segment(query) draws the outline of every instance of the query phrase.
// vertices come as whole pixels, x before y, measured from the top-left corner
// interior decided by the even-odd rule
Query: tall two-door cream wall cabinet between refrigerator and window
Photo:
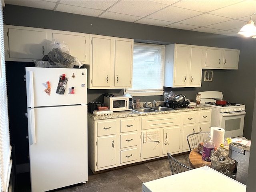
[[[91,35],[88,88],[131,88],[133,40]]]

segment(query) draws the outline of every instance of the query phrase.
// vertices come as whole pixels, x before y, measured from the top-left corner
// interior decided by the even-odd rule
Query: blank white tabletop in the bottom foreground
[[[143,192],[246,192],[246,185],[208,167],[142,183]]]

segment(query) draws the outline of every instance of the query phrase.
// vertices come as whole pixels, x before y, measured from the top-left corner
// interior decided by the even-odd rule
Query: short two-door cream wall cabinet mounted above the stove
[[[240,50],[204,47],[204,69],[238,69]]]

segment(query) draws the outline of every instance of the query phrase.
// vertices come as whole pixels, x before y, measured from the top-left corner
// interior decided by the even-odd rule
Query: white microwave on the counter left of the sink
[[[104,104],[112,111],[126,111],[132,110],[132,96],[104,96]]]

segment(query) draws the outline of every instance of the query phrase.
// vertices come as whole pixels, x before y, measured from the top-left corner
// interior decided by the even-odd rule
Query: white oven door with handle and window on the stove
[[[245,111],[220,114],[220,127],[225,129],[225,138],[243,136]]]

